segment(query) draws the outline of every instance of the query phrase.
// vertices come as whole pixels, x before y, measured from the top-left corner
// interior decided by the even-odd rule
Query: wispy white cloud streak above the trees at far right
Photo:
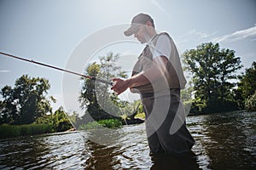
[[[251,28],[247,28],[246,30],[235,31],[229,35],[215,37],[212,39],[212,42],[236,42],[247,38],[251,38],[251,41],[255,41],[256,24]]]

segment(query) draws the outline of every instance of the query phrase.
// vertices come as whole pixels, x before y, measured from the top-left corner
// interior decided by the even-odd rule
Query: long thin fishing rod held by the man
[[[67,71],[65,69],[62,69],[62,68],[59,68],[59,67],[55,67],[53,65],[46,65],[44,63],[40,63],[40,62],[34,61],[32,59],[25,59],[25,58],[21,58],[21,57],[12,55],[12,54],[6,54],[6,53],[3,53],[3,52],[0,52],[0,54],[2,54],[4,56],[11,57],[11,58],[14,58],[14,59],[20,59],[20,60],[23,60],[23,61],[26,61],[26,62],[30,62],[30,63],[35,64],[35,65],[43,65],[43,66],[46,66],[46,67],[49,67],[49,68],[52,68],[52,69],[55,69],[55,70],[58,70],[58,71],[65,71],[65,72],[68,72],[70,74],[77,75],[79,77],[89,78],[91,80],[94,80],[94,81],[97,81],[97,82],[102,82],[102,83],[105,83],[105,84],[108,84],[108,85],[111,85],[111,86],[113,85],[113,82],[108,82],[106,80],[102,80],[102,79],[96,78],[96,77],[89,77],[89,76],[86,76],[86,75],[83,75],[83,74],[79,74],[79,73],[74,72],[74,71]]]

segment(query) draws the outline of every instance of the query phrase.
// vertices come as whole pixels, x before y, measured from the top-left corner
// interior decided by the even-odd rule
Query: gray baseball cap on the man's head
[[[128,30],[124,31],[125,36],[129,37],[132,34],[137,32],[138,26],[144,25],[148,20],[154,25],[154,20],[148,14],[137,14],[131,20],[131,27]]]

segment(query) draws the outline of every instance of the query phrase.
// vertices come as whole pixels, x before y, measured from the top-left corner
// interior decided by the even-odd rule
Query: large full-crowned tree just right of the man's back
[[[236,109],[232,88],[241,69],[241,60],[235,51],[220,49],[218,43],[202,43],[196,49],[183,54],[186,69],[192,72],[195,90],[194,108],[202,112],[227,111]],[[230,108],[226,107],[227,105]]]

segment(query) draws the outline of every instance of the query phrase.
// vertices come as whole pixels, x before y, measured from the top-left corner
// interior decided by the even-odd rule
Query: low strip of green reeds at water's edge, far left
[[[51,133],[52,125],[50,124],[26,124],[26,125],[0,125],[0,139],[14,138],[19,136],[28,136],[41,133]]]

